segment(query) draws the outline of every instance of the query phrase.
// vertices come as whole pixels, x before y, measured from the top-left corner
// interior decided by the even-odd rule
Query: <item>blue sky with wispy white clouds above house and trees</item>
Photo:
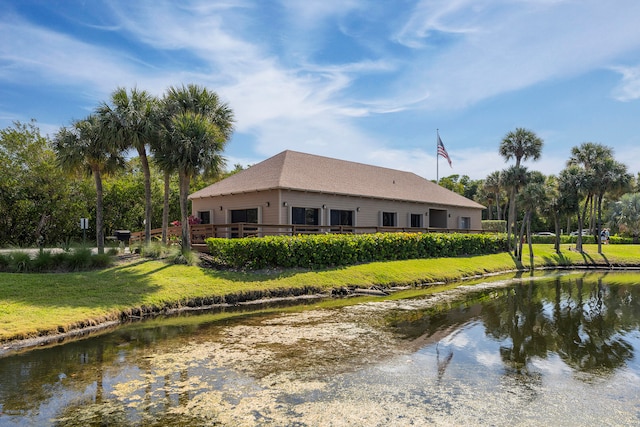
[[[638,22],[637,0],[0,0],[0,127],[197,83],[235,112],[229,166],[291,149],[435,179],[439,129],[440,176],[481,179],[525,127],[531,169],[590,141],[636,174]]]

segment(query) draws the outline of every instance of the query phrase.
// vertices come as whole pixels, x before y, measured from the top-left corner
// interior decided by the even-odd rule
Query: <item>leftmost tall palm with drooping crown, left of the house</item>
[[[109,144],[104,128],[95,115],[63,127],[54,137],[54,150],[60,167],[93,175],[96,185],[96,241],[104,253],[104,215],[102,175],[124,164],[120,150]]]

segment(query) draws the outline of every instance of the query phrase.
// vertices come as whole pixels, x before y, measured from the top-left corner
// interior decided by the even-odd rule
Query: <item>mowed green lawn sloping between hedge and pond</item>
[[[534,267],[640,265],[640,245],[585,245],[584,253],[563,245],[534,245]],[[530,268],[508,253],[376,262],[319,271],[229,272],[161,261],[140,261],[101,271],[59,274],[0,273],[0,342],[24,339],[117,320],[140,308],[161,310],[204,298],[308,288],[370,287],[454,282],[464,277]]]

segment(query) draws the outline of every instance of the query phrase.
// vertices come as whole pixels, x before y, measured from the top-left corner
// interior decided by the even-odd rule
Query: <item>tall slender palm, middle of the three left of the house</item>
[[[138,152],[144,174],[144,236],[151,240],[151,171],[147,145],[158,135],[159,123],[154,110],[157,100],[146,91],[136,88],[127,92],[118,88],[111,94],[111,105],[101,104],[97,113],[104,124],[107,137],[122,150],[134,148]]]

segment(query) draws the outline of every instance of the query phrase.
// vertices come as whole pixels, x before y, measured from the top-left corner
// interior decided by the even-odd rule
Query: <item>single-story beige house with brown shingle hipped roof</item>
[[[203,224],[478,231],[485,208],[411,172],[290,150],[189,199]]]

